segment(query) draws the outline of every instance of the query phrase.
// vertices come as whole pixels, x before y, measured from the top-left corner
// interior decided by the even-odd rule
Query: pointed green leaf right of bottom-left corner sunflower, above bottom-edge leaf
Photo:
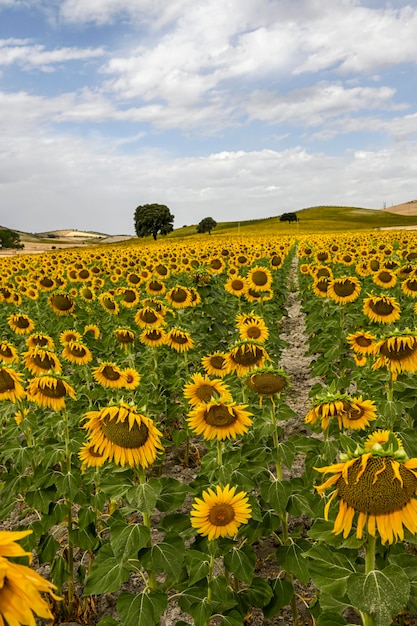
[[[92,595],[117,591],[129,575],[129,570],[114,556],[111,545],[106,543],[97,553],[84,593]]]

